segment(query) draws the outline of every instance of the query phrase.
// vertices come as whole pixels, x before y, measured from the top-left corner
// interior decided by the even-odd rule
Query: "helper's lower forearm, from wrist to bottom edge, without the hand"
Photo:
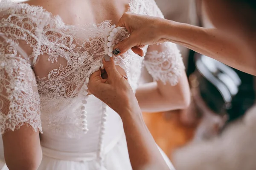
[[[121,113],[129,157],[133,170],[169,170],[146,127],[140,108]]]

